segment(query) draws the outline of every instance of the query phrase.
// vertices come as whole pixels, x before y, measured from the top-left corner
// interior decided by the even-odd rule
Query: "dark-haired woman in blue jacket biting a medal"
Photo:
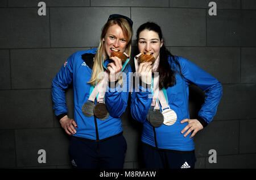
[[[221,83],[187,59],[171,55],[155,23],[138,28],[137,46],[141,53],[134,60],[141,83],[131,93],[131,115],[143,123],[145,168],[194,168],[193,137],[216,114]],[[139,61],[143,54],[154,56],[154,64]],[[197,119],[189,118],[188,85],[192,83],[205,91]]]

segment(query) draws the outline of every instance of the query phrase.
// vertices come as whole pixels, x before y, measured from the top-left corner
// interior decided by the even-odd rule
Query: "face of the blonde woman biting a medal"
[[[125,51],[127,39],[125,35],[123,35],[122,28],[117,24],[114,24],[108,28],[108,31],[102,40],[105,41],[103,48],[105,60],[110,57],[113,51]]]

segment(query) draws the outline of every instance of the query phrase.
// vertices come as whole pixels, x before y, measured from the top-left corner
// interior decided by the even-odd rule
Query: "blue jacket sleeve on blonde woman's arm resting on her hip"
[[[56,74],[52,81],[52,101],[53,110],[55,115],[60,119],[61,116],[67,115],[68,108],[65,98],[65,89],[71,84],[73,79],[73,59],[75,58],[75,53],[71,55],[67,62],[61,66],[60,71]]]

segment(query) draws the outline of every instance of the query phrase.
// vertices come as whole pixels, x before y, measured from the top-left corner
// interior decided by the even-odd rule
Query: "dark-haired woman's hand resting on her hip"
[[[197,119],[183,119],[181,120],[180,123],[182,124],[185,122],[188,122],[188,125],[186,125],[184,129],[182,129],[181,134],[183,134],[187,130],[188,131],[184,134],[184,137],[188,136],[188,134],[191,133],[191,131],[193,131],[192,135],[190,136],[191,138],[195,136],[197,132],[204,128],[203,125]]]

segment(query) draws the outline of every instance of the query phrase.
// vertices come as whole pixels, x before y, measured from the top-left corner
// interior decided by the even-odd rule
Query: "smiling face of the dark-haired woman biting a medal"
[[[159,56],[160,47],[163,45],[163,39],[160,39],[155,31],[147,29],[139,33],[138,49],[139,52],[153,55],[156,58]]]

